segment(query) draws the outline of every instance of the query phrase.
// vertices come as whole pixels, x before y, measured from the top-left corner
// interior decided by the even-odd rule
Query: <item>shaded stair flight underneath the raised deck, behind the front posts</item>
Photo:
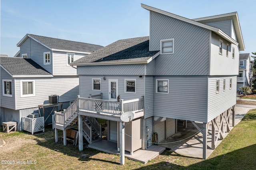
[[[83,136],[89,144],[102,139],[101,124],[94,117],[83,120]]]

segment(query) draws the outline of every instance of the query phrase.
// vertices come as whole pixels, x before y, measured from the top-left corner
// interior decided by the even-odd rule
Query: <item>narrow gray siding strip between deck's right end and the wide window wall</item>
[[[154,81],[153,76],[145,76],[145,118],[154,115]]]

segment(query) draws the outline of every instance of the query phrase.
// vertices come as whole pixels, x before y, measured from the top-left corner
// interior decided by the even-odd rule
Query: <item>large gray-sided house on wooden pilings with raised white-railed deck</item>
[[[96,118],[105,119],[108,141],[116,143],[124,164],[124,150],[132,154],[146,149],[155,132],[161,142],[176,133],[181,119],[203,124],[206,158],[207,127],[222,126],[216,117],[228,117],[222,122],[229,129],[234,114],[239,51],[244,50],[237,13],[190,20],[144,4],[142,8],[150,12],[148,37],[118,40],[71,63],[77,67],[80,97],[57,113],[56,135],[61,129],[65,136],[73,121],[62,122],[62,117],[78,117],[79,150],[82,136],[94,148],[90,125],[101,130]],[[121,115],[130,112],[134,119],[122,128],[127,124]],[[95,132],[99,136],[100,130]],[[218,138],[212,136],[212,149]]]

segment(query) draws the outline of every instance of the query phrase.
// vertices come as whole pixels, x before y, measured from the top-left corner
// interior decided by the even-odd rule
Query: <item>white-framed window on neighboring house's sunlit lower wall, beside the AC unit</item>
[[[36,96],[35,80],[21,80],[20,81],[20,97]]]

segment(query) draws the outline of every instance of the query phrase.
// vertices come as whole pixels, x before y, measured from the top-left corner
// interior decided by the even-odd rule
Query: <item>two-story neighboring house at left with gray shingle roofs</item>
[[[1,124],[38,113],[49,95],[66,109],[79,94],[76,68],[69,64],[102,46],[27,34],[17,44],[18,57],[1,57]],[[41,112],[42,113],[42,112]],[[49,119],[50,120],[50,119]]]

